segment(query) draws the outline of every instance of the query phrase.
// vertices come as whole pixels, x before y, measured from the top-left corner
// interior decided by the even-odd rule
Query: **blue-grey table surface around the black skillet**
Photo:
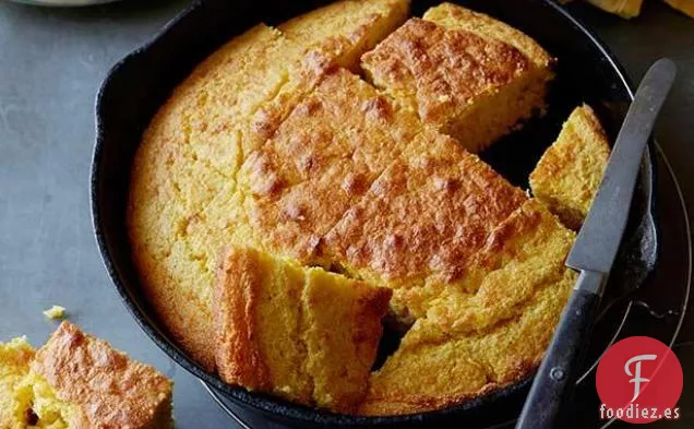
[[[26,334],[41,344],[56,327],[41,310],[60,303],[87,332],[175,379],[179,428],[224,428],[234,426],[200,383],[156,348],[120,303],[89,217],[97,87],[112,63],[186,4],[151,0],[43,9],[0,1],[0,338]],[[692,213],[694,20],[656,0],[631,22],[582,4],[572,10],[597,29],[634,80],[658,57],[678,62],[680,79],[658,135]],[[694,339],[693,319],[683,342]],[[694,365],[683,365],[685,373],[694,372]]]

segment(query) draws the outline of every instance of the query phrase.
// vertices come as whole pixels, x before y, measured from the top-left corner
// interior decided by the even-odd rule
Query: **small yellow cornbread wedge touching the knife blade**
[[[595,112],[586,105],[577,107],[530,174],[533,194],[564,225],[578,229],[609,157],[610,145]]]

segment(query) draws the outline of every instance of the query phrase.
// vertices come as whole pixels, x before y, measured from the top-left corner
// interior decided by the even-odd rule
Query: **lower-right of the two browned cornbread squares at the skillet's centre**
[[[393,163],[323,240],[347,273],[395,289],[392,310],[404,322],[427,307],[417,290],[462,282],[489,234],[526,199],[454,140],[426,131],[415,142],[419,150]]]

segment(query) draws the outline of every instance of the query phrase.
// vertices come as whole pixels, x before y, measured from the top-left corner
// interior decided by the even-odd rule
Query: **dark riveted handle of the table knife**
[[[560,409],[576,383],[595,310],[605,285],[601,273],[583,271],[535,376],[516,429],[560,426]]]

